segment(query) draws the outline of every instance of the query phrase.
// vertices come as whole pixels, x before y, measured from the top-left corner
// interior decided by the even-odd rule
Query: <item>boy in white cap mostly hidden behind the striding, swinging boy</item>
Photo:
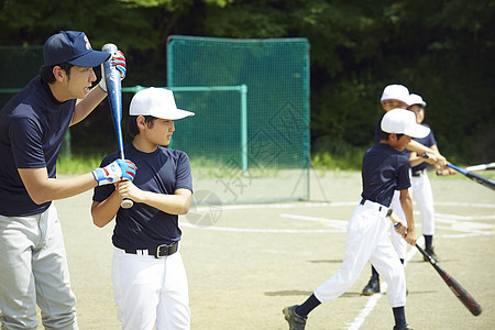
[[[407,87],[405,87],[403,85],[388,85],[383,90],[383,94],[381,97],[381,103],[382,103],[382,107],[385,110],[385,112],[387,112],[394,108],[407,109],[409,106],[409,90],[407,89]],[[381,128],[380,128],[381,122],[382,122],[382,119],[378,119],[376,121],[375,143],[378,143],[380,139],[381,139],[380,138],[381,136]],[[438,166],[443,167],[446,164],[446,158],[442,155],[440,155],[438,152],[435,152],[433,150],[431,150],[414,140],[406,146],[405,153],[407,153],[408,151],[415,151],[416,153],[421,154],[421,155],[429,155],[428,162],[437,163],[437,164],[439,164]],[[394,197],[392,199],[391,207],[394,210],[394,212],[397,215],[397,217],[399,219],[404,220],[405,215],[404,215],[404,211],[403,211],[400,205],[402,204],[399,200],[399,194],[398,194],[398,191],[395,191]],[[392,244],[394,245],[394,248],[397,251],[400,262],[404,263],[404,258],[407,253],[406,242],[402,239],[402,237],[399,234],[397,234],[395,232],[394,229],[392,229],[391,239],[392,239]],[[362,294],[364,296],[371,296],[375,293],[380,293],[380,275],[378,275],[378,272],[376,272],[376,270],[372,266],[372,276],[370,277],[370,282],[363,288]]]

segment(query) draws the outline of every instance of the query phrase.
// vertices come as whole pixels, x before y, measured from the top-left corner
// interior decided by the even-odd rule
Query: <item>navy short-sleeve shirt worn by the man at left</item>
[[[46,167],[56,177],[56,162],[76,100],[58,102],[40,76],[31,80],[0,111],[0,215],[23,217],[45,211],[36,205],[18,168]]]

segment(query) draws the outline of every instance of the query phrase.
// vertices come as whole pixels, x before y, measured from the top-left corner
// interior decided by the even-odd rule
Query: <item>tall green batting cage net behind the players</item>
[[[196,204],[309,198],[309,43],[173,35],[172,147],[191,161]]]

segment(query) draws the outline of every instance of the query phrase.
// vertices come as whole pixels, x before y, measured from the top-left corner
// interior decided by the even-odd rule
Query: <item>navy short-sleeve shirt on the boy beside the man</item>
[[[158,146],[153,153],[143,153],[129,144],[124,153],[125,158],[138,166],[133,183],[140,189],[167,195],[174,195],[180,188],[193,191],[189,157],[185,152]],[[118,157],[118,153],[108,155],[101,166]],[[92,199],[101,202],[113,191],[113,185],[96,187]],[[132,208],[120,208],[117,212],[112,242],[119,249],[142,250],[177,242],[180,235],[177,215],[134,202]]]

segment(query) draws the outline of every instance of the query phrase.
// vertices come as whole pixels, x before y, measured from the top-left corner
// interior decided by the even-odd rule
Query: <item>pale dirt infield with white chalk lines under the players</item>
[[[483,312],[473,317],[419,252],[409,249],[408,322],[424,330],[494,329],[495,193],[462,176],[430,178],[437,213],[433,244],[441,266]],[[337,272],[345,224],[360,193],[359,173],[314,172],[309,202],[206,206],[183,217],[191,329],[288,329],[282,308],[302,302]],[[87,193],[56,202],[79,327],[120,329],[110,280],[112,224],[98,229],[91,223],[90,199]],[[420,233],[420,217],[416,219]],[[360,296],[370,273],[366,267],[348,293],[319,306],[307,329],[392,329],[386,294]]]

